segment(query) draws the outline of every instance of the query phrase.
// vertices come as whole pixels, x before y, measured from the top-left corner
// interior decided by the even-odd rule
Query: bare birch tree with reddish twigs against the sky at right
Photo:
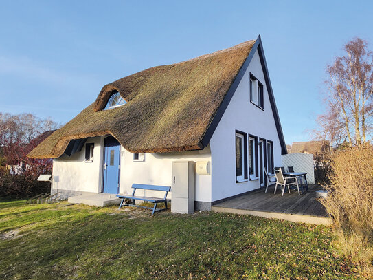
[[[361,145],[371,140],[373,54],[359,38],[344,45],[345,54],[326,67],[326,114],[318,117],[319,136],[333,144]]]

